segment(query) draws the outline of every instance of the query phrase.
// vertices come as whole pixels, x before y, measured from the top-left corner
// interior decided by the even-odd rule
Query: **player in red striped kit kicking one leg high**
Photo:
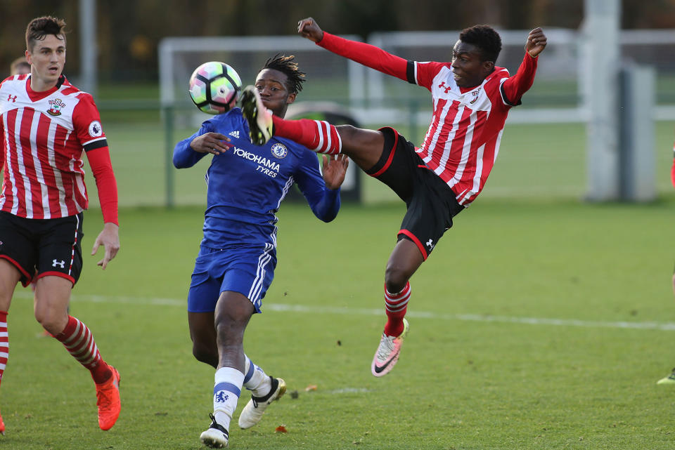
[[[487,25],[461,32],[451,62],[417,62],[323,32],[312,18],[298,24],[302,37],[328,51],[428,88],[432,94],[433,118],[419,148],[393,128],[374,131],[272,117],[255,91],[245,89],[242,95],[253,142],[265,142],[274,134],[319,153],[347,154],[406,202],[406,216],[385,270],[387,324],[371,364],[374,376],[384,376],[396,364],[408,333],[404,316],[411,296],[409,279],[452,226],[454,216],[484,187],[508,111],[520,105],[532,86],[546,35],[541,28],[529,32],[522,64],[510,77],[495,65],[501,38]]]

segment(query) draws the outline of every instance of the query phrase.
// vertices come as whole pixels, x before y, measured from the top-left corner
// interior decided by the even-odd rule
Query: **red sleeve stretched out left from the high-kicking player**
[[[371,69],[416,84],[413,62],[387,53],[382,48],[363,42],[349,41],[349,39],[328,32],[323,32],[323,39],[316,44],[330,52],[371,67]]]

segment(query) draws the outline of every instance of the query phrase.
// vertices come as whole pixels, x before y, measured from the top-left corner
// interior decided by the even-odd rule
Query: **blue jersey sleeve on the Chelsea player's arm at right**
[[[323,181],[319,171],[319,159],[314,152],[305,150],[302,152],[302,164],[295,173],[295,182],[300,187],[300,192],[307,199],[309,208],[314,216],[330,222],[338,216],[340,211],[340,188],[330,190]]]

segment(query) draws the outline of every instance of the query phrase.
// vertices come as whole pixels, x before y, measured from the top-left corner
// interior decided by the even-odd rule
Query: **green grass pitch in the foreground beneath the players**
[[[657,327],[675,322],[674,208],[673,194],[650,205],[479,199],[413,277],[411,333],[377,379],[402,205],[347,204],[329,224],[283,205],[275,281],[245,348],[300,396],[251,430],[234,426],[231,448],[671,449],[675,390],[655,381],[675,365],[674,331]],[[122,209],[122,249],[101,271],[87,255],[100,211],[86,214],[71,312],[122,373],[109,432],[88,373],[36,337],[18,289],[2,449],[200,449],[213,370],[191,356],[184,298],[202,218],[200,207]],[[282,424],[288,433],[275,433]]]

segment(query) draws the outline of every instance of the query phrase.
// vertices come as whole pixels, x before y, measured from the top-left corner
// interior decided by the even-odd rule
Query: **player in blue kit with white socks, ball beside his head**
[[[255,88],[265,107],[284,117],[305,81],[293,56],[276,55],[258,73]],[[267,376],[243,350],[250,317],[260,312],[276,267],[276,211],[293,183],[314,215],[330,222],[340,210],[340,185],[348,160],[323,158],[300,144],[272,138],[252,145],[241,110],[205,121],[174,149],[174,166],[191,167],[213,154],[206,173],[204,237],[188,293],[193,355],[216,370],[210,428],[200,440],[223,448],[242,386],[252,392],[239,417],[241,428],[260,421],[266,407],[285,392],[281,378]]]

